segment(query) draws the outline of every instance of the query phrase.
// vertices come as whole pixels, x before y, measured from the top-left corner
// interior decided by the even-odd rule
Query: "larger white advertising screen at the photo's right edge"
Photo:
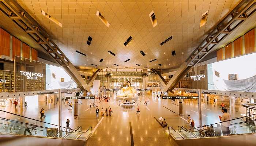
[[[256,53],[207,65],[208,90],[256,92]]]

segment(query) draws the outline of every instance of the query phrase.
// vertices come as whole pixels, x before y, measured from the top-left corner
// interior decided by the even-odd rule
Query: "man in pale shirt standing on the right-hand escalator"
[[[230,114],[229,113],[227,113],[227,109],[226,108],[224,108],[223,110],[222,110],[222,113],[223,113],[223,115],[222,116],[219,116],[219,119],[221,120],[221,130],[222,130],[222,134],[223,134],[223,136],[224,135],[229,135],[230,134],[230,130],[229,130],[229,126],[230,126]],[[225,121],[227,121],[227,122],[225,122]]]

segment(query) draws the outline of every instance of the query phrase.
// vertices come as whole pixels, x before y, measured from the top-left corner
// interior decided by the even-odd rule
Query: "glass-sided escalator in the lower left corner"
[[[85,145],[92,127],[83,130],[61,127],[55,124],[20,116],[0,110],[0,146],[19,145]]]

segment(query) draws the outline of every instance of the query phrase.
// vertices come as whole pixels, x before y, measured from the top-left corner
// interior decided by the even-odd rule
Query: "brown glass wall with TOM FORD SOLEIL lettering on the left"
[[[46,64],[15,57],[15,92],[45,90]]]

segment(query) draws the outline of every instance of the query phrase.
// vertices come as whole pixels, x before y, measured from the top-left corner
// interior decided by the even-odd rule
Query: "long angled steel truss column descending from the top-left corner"
[[[39,26],[16,0],[0,0],[0,10],[41,46],[49,56],[58,62],[82,91],[90,91],[90,87],[80,76],[78,70],[53,42],[53,39],[50,37],[51,34],[48,34]]]

